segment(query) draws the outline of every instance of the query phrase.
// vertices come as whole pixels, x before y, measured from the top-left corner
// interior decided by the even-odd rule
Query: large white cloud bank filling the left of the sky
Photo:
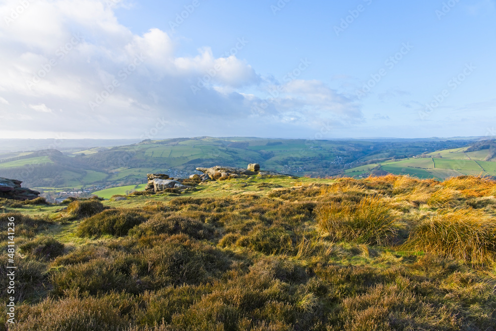
[[[362,117],[353,100],[320,81],[280,84],[281,95],[266,100],[245,93],[255,88],[268,95],[271,87],[245,60],[234,53],[216,58],[209,47],[179,57],[178,40],[157,28],[132,33],[106,2],[30,1],[8,25],[0,22],[0,91],[9,112],[22,114],[23,126],[34,135],[64,128],[71,135],[139,137],[157,119],[173,123],[157,137],[241,134],[241,127],[245,134],[262,135],[288,123],[306,130],[322,119]],[[18,0],[4,0],[0,17],[16,6]],[[239,39],[233,50],[249,46]],[[137,58],[143,59],[138,65]],[[202,87],[193,93],[198,82]],[[98,106],[92,110],[90,102]],[[253,111],[264,102],[263,112]],[[35,112],[26,113],[25,104]],[[15,121],[3,116],[0,131]]]

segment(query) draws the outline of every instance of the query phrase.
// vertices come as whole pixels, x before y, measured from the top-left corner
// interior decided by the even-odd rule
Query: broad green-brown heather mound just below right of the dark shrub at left
[[[134,226],[146,221],[148,214],[139,209],[109,209],[84,219],[77,228],[79,237],[105,234],[125,236]]]

